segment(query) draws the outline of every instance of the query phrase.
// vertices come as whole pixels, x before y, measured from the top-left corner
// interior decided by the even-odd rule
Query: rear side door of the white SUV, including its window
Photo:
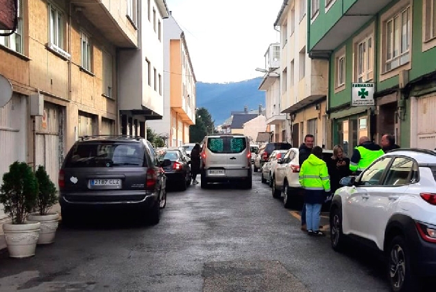
[[[396,157],[387,169],[380,187],[374,187],[369,193],[367,214],[370,214],[372,222],[378,224],[368,224],[368,238],[378,243],[381,248],[383,242],[377,241],[385,236],[385,227],[391,217],[390,210],[400,196],[406,193],[409,185],[417,181],[417,173],[418,166],[415,161],[408,157]]]

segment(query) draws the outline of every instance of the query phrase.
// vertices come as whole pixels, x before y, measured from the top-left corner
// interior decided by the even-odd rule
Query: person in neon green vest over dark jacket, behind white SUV
[[[354,148],[353,155],[350,159],[351,172],[355,175],[360,174],[383,154],[385,154],[385,152],[380,145],[371,142],[366,136],[361,137],[359,139],[359,145]]]

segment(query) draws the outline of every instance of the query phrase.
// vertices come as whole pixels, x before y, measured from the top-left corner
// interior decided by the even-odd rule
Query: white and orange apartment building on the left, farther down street
[[[169,14],[164,23],[163,117],[147,125],[167,137],[168,146],[189,143],[189,126],[195,124],[195,74],[184,31]]]

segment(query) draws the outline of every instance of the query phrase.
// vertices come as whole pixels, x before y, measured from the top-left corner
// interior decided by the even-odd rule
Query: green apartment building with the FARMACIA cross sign
[[[308,51],[328,59],[333,143],[351,150],[362,135],[402,147],[436,147],[436,1],[311,0]],[[365,105],[353,88],[372,85]]]

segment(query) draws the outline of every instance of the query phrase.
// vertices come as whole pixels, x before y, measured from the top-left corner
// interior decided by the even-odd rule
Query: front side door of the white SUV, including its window
[[[343,229],[346,233],[367,237],[370,232],[369,226],[374,224],[372,214],[368,213],[369,200],[371,194],[378,191],[385,170],[391,161],[391,157],[379,159],[362,172],[356,180],[356,186],[348,187],[343,218]]]

